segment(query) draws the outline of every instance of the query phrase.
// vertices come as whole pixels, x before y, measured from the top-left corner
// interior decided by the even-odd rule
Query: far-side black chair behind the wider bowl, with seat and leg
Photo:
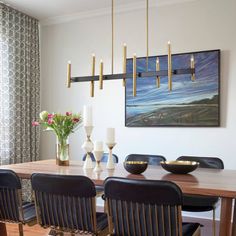
[[[200,168],[224,169],[223,161],[217,157],[180,156],[177,160],[197,161]],[[183,210],[190,212],[213,211],[212,231],[215,236],[215,207],[218,201],[218,197],[184,195]]]

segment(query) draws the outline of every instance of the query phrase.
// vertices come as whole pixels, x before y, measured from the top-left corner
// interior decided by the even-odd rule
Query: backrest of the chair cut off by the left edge
[[[0,170],[0,221],[24,222],[21,182],[11,170]]]

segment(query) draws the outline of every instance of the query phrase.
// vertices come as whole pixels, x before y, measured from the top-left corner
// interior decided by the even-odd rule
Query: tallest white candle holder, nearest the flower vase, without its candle
[[[84,169],[92,169],[93,168],[93,161],[91,159],[91,153],[93,151],[93,143],[90,139],[92,131],[93,131],[93,126],[84,126],[86,135],[87,135],[87,140],[83,143],[82,148],[86,151],[86,159],[84,162]]]

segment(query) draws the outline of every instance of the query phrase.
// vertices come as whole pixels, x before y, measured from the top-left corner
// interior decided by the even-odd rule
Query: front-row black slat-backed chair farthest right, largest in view
[[[198,223],[182,223],[182,192],[172,182],[110,177],[105,201],[112,235],[200,235]]]

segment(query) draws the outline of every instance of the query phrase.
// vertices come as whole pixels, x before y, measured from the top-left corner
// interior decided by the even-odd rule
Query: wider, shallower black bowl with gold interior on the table
[[[160,163],[165,170],[173,174],[188,174],[199,165],[196,161],[161,161]]]

